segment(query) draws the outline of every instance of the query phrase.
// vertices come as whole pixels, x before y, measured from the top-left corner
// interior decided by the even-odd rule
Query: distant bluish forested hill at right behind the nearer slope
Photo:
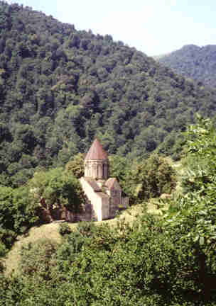
[[[185,45],[168,55],[156,57],[156,60],[204,86],[216,86],[216,45]]]

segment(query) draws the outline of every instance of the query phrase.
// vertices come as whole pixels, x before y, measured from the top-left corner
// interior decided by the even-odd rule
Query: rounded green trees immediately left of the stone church
[[[0,257],[5,256],[19,234],[44,222],[41,199],[50,213],[54,206],[80,212],[85,202],[80,182],[63,168],[38,171],[19,188],[0,186]]]

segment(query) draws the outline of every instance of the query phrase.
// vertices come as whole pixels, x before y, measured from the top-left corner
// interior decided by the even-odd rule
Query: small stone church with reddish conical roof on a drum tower
[[[87,197],[86,205],[92,207],[92,220],[112,218],[117,210],[129,205],[129,198],[121,196],[116,178],[109,178],[109,160],[99,140],[95,139],[85,157],[85,176],[80,179]]]

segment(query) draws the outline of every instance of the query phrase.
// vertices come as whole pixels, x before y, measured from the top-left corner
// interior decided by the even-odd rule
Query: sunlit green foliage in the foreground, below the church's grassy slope
[[[215,306],[216,133],[200,118],[187,137],[190,161],[207,167],[193,169],[190,191],[166,215],[144,213],[115,229],[80,224],[59,246],[43,242],[43,256],[28,246],[18,278],[1,278],[4,305]]]

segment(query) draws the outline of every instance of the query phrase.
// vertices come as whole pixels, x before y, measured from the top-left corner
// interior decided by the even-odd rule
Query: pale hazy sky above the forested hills
[[[8,0],[72,23],[77,30],[110,34],[147,55],[183,45],[216,45],[215,0]]]

